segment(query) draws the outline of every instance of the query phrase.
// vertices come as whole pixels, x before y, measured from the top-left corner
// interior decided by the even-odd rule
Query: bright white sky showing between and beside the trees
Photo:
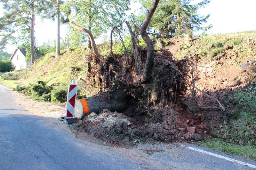
[[[201,0],[194,0],[192,3],[196,4]],[[141,6],[138,3],[132,1],[130,11],[126,14],[130,15],[134,10],[139,9]],[[256,30],[255,20],[255,7],[256,0],[212,0],[204,8],[200,8],[198,13],[200,15],[211,14],[208,22],[204,25],[212,24],[212,28],[208,30],[207,34],[219,34],[219,33],[230,33],[230,32],[241,32]],[[2,4],[0,4],[2,9]],[[0,10],[0,17],[3,15],[3,10]],[[67,26],[60,26],[60,37],[65,38]],[[194,32],[195,35],[201,32]],[[109,35],[109,31],[106,33]],[[40,18],[36,18],[35,25],[35,36],[38,45],[47,43],[48,41],[53,42],[57,37],[57,25],[51,20],[41,21]],[[103,35],[104,36],[104,35]],[[96,43],[100,43],[103,39],[96,39]],[[7,45],[6,50],[12,53],[15,50],[15,45]]]

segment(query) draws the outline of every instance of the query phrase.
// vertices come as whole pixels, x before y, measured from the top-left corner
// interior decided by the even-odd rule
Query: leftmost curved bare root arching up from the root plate
[[[83,27],[80,27],[80,26],[76,25],[75,23],[73,23],[71,21],[69,23],[76,30],[85,32],[89,36],[89,39],[90,39],[91,44],[92,44],[92,51],[93,51],[93,53],[96,55],[98,60],[102,60],[102,56],[100,55],[100,53],[97,50],[97,46],[95,44],[95,40],[94,40],[94,37],[92,35],[92,32],[87,30],[86,28],[83,28]]]

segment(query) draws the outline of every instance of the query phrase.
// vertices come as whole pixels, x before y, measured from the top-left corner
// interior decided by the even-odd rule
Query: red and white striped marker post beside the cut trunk
[[[72,80],[72,83],[68,85],[68,99],[65,115],[66,117],[75,116],[76,93],[77,84],[75,84],[75,80]]]

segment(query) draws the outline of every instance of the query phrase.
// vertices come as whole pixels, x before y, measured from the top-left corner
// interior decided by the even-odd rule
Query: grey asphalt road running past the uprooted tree
[[[225,155],[196,145],[156,143],[155,145],[143,144],[127,149],[85,142],[77,139],[74,133],[66,127],[66,124],[58,122],[56,117],[36,116],[27,110],[26,106],[15,103],[15,97],[17,97],[16,92],[0,85],[1,170],[238,170],[256,167],[255,161]],[[162,148],[165,151],[148,155],[143,152],[145,148]],[[201,149],[201,152],[196,149]],[[207,153],[202,152],[202,150],[207,151]],[[243,165],[241,162],[232,162],[232,160],[239,160],[247,163],[247,165]]]

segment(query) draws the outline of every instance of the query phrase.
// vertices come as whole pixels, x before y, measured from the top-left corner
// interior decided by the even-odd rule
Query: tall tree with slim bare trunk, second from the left
[[[52,21],[57,20],[56,59],[60,55],[60,24],[67,24],[68,15],[70,14],[69,9],[66,12],[60,11],[61,4],[63,4],[61,0],[46,0],[43,9],[43,18],[48,18]]]

